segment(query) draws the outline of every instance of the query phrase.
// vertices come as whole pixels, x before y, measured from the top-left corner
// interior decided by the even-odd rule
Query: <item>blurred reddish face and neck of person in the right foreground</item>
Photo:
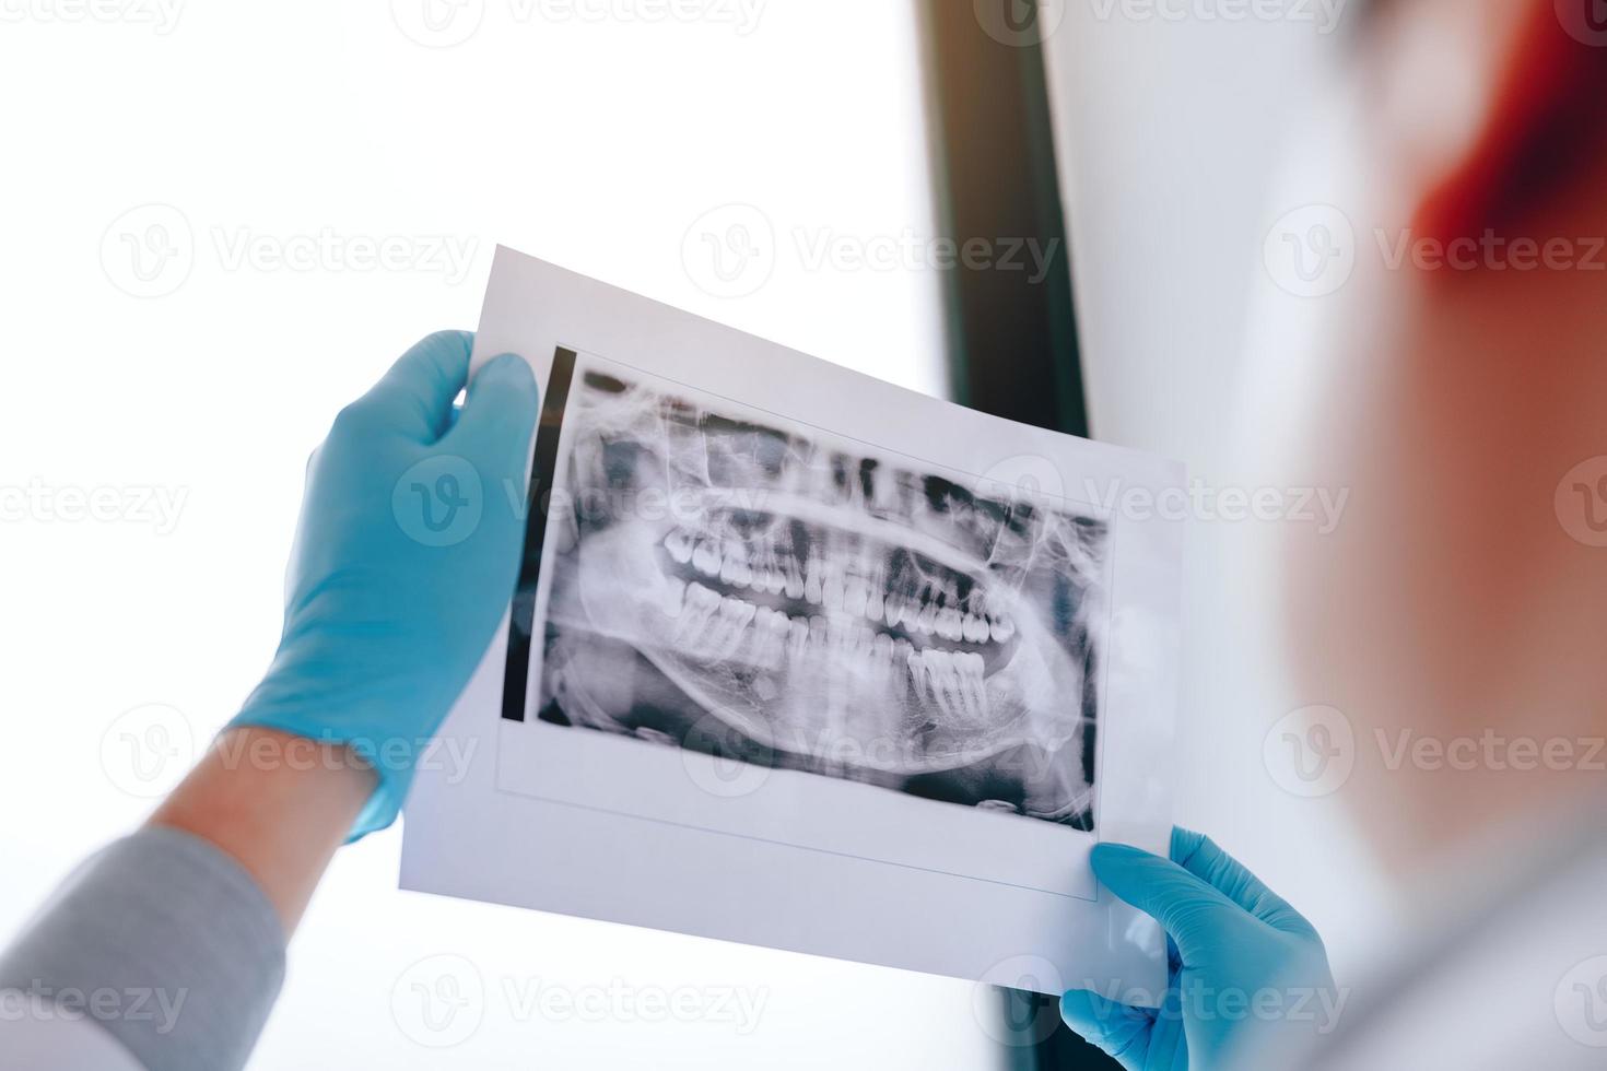
[[[1380,16],[1355,275],[1289,358],[1305,478],[1350,506],[1287,564],[1303,694],[1351,721],[1343,793],[1408,869],[1607,784],[1607,42],[1551,0]]]

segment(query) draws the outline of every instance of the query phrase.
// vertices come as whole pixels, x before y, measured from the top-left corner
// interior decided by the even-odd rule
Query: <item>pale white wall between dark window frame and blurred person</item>
[[[1094,434],[1178,458],[1212,491],[1261,487],[1282,448],[1271,409],[1297,401],[1268,397],[1247,350],[1271,286],[1263,241],[1297,207],[1279,204],[1274,175],[1321,114],[1355,13],[1342,0],[1273,5],[1284,18],[1270,21],[1226,21],[1247,5],[1212,0],[1048,8],[1064,10],[1046,50]],[[1192,525],[1176,814],[1305,910],[1343,981],[1364,970],[1387,901],[1332,798],[1284,792],[1263,763],[1274,723],[1323,702],[1284,678],[1276,527],[1204,511]]]

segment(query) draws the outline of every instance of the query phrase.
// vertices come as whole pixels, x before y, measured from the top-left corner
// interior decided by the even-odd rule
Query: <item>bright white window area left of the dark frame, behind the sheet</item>
[[[419,5],[400,6],[407,22]],[[186,499],[169,533],[42,507],[0,525],[0,935],[149,809],[119,787],[140,788],[122,734],[159,739],[124,711],[178,711],[156,716],[178,745],[170,780],[183,737],[207,739],[256,684],[307,454],[410,342],[474,326],[495,242],[937,389],[935,276],[810,270],[792,239],[930,233],[913,2],[762,6],[744,34],[718,18],[517,21],[490,0],[474,37],[437,50],[366,0],[196,0],[167,34],[8,0],[0,485]],[[178,223],[117,223],[146,202]],[[741,300],[701,291],[681,260],[688,228],[728,202],[759,207],[779,242],[768,284]],[[117,286],[141,289],[124,231],[141,241],[153,222],[169,241],[151,249],[180,250],[156,289],[175,289],[138,299]],[[230,260],[244,234],[275,250],[326,231],[419,254],[452,236],[477,255],[456,284],[427,263]],[[146,772],[169,750],[146,748]],[[391,830],[337,859],[256,1068],[988,1066],[967,984],[403,894],[399,849]],[[474,1034],[435,1052],[410,1039],[416,1018],[394,1020],[392,992],[415,1000],[408,968],[439,954],[466,957],[487,1000]],[[722,1021],[516,1021],[505,989],[615,979],[767,1004],[742,1036]]]

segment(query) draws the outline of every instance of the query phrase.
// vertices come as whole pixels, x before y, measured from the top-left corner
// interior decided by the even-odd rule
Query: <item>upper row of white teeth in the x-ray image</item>
[[[678,565],[691,565],[699,573],[718,576],[733,588],[749,588],[771,596],[784,593],[789,599],[807,601],[829,612],[885,621],[893,628],[902,626],[906,633],[935,634],[951,642],[971,644],[990,639],[1003,644],[1016,634],[1016,625],[1006,613],[988,613],[983,607],[961,610],[953,588],[934,591],[926,586],[913,594],[893,591],[890,578],[885,573],[876,575],[882,572],[876,568],[868,570],[871,576],[861,576],[840,565],[823,564],[815,556],[810,556],[800,568],[795,557],[773,552],[768,562],[755,565],[741,543],[699,538],[680,528],[664,536],[664,549]]]

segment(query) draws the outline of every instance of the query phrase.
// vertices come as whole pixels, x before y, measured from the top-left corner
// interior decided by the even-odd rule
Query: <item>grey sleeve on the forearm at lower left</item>
[[[170,829],[92,856],[0,954],[0,991],[93,1020],[149,1071],[243,1066],[283,981],[262,890]]]

